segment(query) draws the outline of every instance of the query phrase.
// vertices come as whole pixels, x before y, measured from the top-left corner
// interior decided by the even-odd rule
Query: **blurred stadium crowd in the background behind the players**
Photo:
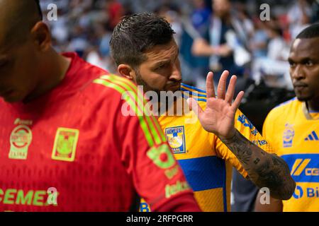
[[[287,61],[292,40],[319,22],[319,0],[41,0],[44,15],[52,3],[57,20],[47,23],[57,51],[77,52],[111,73],[116,66],[109,41],[123,16],[150,11],[167,18],[176,32],[184,83],[205,88],[208,71],[218,81],[228,69],[239,77],[238,90],[246,91],[240,109],[259,131],[269,110],[294,95]],[[269,15],[262,4],[270,6]],[[236,187],[250,191],[233,191],[233,210],[252,210],[257,189]]]

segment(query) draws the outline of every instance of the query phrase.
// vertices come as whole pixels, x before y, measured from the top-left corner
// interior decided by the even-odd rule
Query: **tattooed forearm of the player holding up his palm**
[[[266,153],[236,130],[230,139],[221,139],[242,163],[250,180],[259,188],[267,187],[273,198],[289,199],[296,183],[289,167],[281,157]]]

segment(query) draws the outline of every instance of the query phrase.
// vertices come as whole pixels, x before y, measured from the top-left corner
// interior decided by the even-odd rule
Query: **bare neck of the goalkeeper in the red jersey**
[[[43,60],[42,66],[40,66],[40,74],[42,77],[38,85],[36,85],[33,92],[31,92],[23,102],[30,102],[59,85],[65,78],[70,63],[71,59],[57,54],[57,52],[52,49],[46,59]]]

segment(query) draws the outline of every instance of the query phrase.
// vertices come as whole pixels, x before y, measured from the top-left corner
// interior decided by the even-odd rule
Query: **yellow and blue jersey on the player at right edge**
[[[295,98],[272,109],[263,135],[289,165],[296,190],[283,210],[319,211],[319,112]]]

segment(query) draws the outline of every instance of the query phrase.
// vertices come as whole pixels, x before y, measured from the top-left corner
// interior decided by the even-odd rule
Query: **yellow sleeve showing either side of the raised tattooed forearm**
[[[267,143],[266,139],[257,131],[254,125],[247,119],[245,114],[242,114],[238,109],[235,114],[235,129],[240,131],[245,138],[249,141],[257,145],[262,150],[267,153],[274,153],[274,150],[271,148],[269,143]],[[229,161],[235,169],[237,169],[242,177],[247,177],[247,172],[242,167],[240,161],[237,157],[232,153],[232,151],[222,142],[219,138],[215,137],[216,150],[218,156],[222,157],[224,160]]]

